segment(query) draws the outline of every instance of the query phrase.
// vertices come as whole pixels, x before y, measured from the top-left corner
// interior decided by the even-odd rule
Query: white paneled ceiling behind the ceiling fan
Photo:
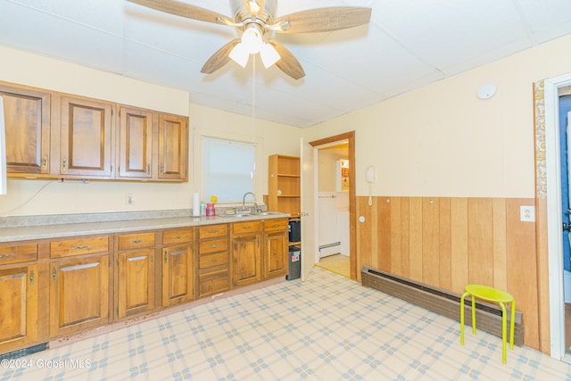
[[[179,0],[231,16],[228,0]],[[313,126],[571,33],[569,0],[280,0],[277,15],[372,8],[368,26],[276,39],[302,63],[200,70],[236,29],[126,0],[0,0],[0,44],[188,91],[193,104]],[[1,58],[0,58],[1,59]]]

